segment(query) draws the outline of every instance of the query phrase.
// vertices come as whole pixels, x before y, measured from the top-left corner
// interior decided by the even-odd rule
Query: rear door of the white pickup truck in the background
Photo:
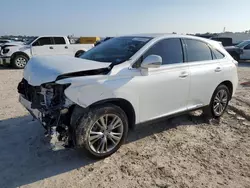
[[[66,44],[64,37],[53,37],[54,51],[57,55],[71,55],[69,45]]]

